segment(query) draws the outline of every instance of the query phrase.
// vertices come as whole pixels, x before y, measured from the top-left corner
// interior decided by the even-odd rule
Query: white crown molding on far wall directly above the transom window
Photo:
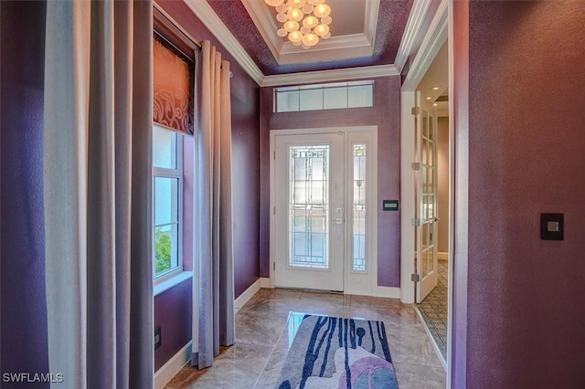
[[[261,87],[280,87],[284,85],[303,85],[324,82],[344,81],[347,79],[375,79],[378,77],[399,76],[394,65],[378,65],[363,68],[336,68],[320,71],[303,71],[277,76],[266,76]]]

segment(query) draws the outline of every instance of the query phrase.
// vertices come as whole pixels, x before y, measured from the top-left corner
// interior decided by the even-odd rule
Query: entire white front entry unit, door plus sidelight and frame
[[[377,128],[271,131],[275,287],[368,294],[376,276]]]

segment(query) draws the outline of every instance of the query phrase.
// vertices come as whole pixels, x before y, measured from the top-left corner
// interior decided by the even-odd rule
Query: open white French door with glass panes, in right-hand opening
[[[420,92],[417,103],[415,196],[417,209],[415,218],[415,268],[416,302],[427,297],[437,286],[437,130],[436,118],[427,110],[420,109]]]

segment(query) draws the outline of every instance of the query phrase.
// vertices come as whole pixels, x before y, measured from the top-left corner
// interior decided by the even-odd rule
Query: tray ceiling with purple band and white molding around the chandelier
[[[295,47],[278,37],[276,11],[264,0],[185,0],[218,40],[261,86],[318,82],[309,73],[344,69],[350,78],[399,74],[430,2],[413,0],[326,0],[332,37]],[[336,71],[336,72],[335,72]],[[363,76],[360,76],[361,73]],[[297,79],[292,79],[296,77]],[[303,81],[303,82],[305,82]]]

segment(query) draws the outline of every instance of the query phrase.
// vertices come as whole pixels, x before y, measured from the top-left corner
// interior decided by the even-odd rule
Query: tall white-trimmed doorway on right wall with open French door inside
[[[449,279],[452,274],[453,202],[450,182],[450,47],[447,37],[449,8],[449,2],[441,2],[401,91],[403,234],[400,251],[400,298],[404,302],[420,303],[415,306],[445,369],[449,360],[447,349],[451,336]],[[427,119],[424,118],[425,111]],[[422,129],[423,123],[426,124],[426,131]],[[421,154],[428,152],[429,146],[431,149],[436,148],[437,152],[431,156],[432,161],[429,157],[425,161]],[[420,166],[420,170],[416,164],[412,166],[419,162],[428,168],[426,175],[421,172],[423,166]],[[429,222],[426,227],[423,220]],[[422,280],[427,282],[423,283]],[[425,303],[440,311],[425,315]],[[433,319],[437,321],[432,321]]]

